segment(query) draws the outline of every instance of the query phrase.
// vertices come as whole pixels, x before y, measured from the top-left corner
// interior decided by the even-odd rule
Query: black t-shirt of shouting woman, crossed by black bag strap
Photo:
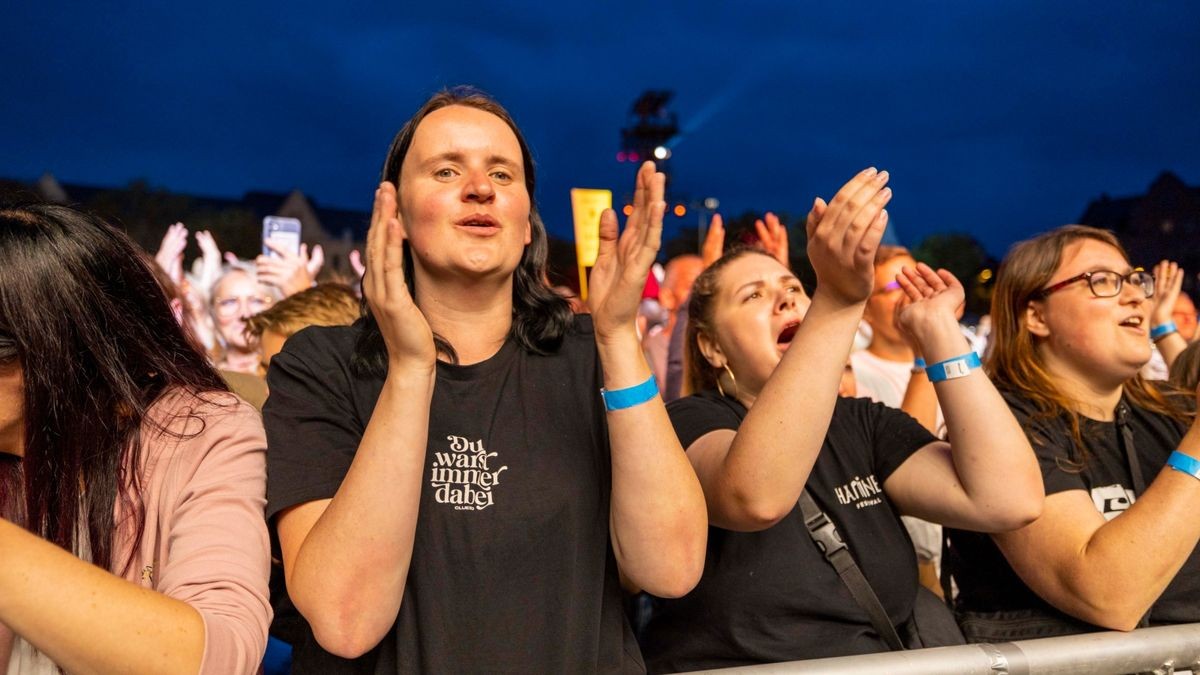
[[[737,429],[746,414],[715,392],[672,401],[667,412],[684,448],[709,431]],[[838,399],[808,483],[896,626],[912,616],[917,558],[883,482],[934,441],[901,411]],[[700,585],[660,601],[642,641],[655,673],[887,650],[812,543],[799,508],[762,532],[710,527]]]

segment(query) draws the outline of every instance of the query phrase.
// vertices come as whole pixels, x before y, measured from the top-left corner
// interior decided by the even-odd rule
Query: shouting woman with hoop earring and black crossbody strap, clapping
[[[990,532],[1039,513],[1033,453],[972,360],[954,313],[962,287],[948,273],[919,265],[899,282],[908,304],[901,322],[931,364],[953,447],[902,411],[838,395],[872,288],[887,180],[866,169],[829,204],[815,202],[811,304],[786,267],[749,249],[727,253],[692,288],[691,395],[668,412],[712,528],[700,585],[659,603],[647,627],[652,671],[961,641],[936,599],[944,634],[914,628],[917,560],[900,515]],[[847,551],[874,604],[859,599],[864,584],[844,583],[834,568],[846,569]]]

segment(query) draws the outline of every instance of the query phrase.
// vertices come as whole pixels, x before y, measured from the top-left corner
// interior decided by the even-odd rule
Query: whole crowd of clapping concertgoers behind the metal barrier
[[[355,279],[0,203],[0,667],[256,673],[270,635],[294,673],[676,673],[1200,622],[1184,271],[1064,226],[965,330],[959,280],[881,244],[889,179],[814,199],[810,294],[772,214],[655,277],[647,162],[586,303],[472,89],[392,139]]]

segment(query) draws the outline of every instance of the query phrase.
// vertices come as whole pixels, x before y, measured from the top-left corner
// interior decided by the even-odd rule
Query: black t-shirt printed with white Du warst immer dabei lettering
[[[310,328],[271,363],[268,518],[330,498],[382,378],[350,374],[360,324]],[[511,339],[438,363],[420,515],[396,623],[354,661],[305,626],[294,671],[643,670],[608,540],[611,462],[590,317],[552,356]]]

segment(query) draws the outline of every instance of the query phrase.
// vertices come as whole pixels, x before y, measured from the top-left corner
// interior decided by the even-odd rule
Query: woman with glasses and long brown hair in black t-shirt
[[[950,532],[968,639],[1200,621],[1194,393],[1139,374],[1169,330],[1154,285],[1112,234],[1084,226],[1022,241],[1001,265],[986,365],[1046,498],[1014,532]]]

